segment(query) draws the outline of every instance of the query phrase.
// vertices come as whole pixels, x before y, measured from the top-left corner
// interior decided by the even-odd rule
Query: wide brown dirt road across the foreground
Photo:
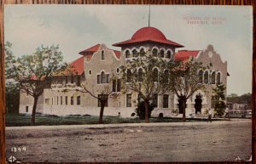
[[[7,127],[6,152],[22,162],[234,161],[236,156],[248,160],[251,124],[241,120]]]

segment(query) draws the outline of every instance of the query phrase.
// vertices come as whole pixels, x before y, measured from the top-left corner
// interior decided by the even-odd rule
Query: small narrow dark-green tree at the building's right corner
[[[216,84],[216,88],[213,88],[213,93],[214,93],[214,110],[217,114],[217,116],[223,116],[224,110],[225,110],[225,86],[223,83]]]

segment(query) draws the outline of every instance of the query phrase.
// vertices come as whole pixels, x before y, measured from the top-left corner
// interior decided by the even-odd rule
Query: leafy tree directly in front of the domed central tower
[[[149,101],[169,90],[166,66],[166,60],[144,53],[136,59],[126,60],[126,65],[121,68],[123,92],[138,93],[143,99],[145,122],[149,122]]]

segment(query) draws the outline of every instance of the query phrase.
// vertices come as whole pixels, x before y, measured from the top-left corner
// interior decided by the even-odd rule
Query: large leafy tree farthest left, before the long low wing
[[[33,97],[31,124],[35,125],[38,98],[44,93],[51,77],[67,67],[59,46],[38,47],[35,53],[12,59],[13,65],[9,73],[15,82],[19,82],[20,90]]]

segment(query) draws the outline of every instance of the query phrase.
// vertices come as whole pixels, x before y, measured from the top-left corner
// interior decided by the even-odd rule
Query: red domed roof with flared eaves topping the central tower
[[[154,27],[143,27],[138,31],[136,31],[131,37],[131,39],[126,40],[124,42],[115,43],[113,44],[113,46],[122,47],[124,45],[132,44],[136,42],[160,42],[160,43],[175,46],[177,48],[183,48],[183,45],[166,39],[166,36],[160,30]]]

